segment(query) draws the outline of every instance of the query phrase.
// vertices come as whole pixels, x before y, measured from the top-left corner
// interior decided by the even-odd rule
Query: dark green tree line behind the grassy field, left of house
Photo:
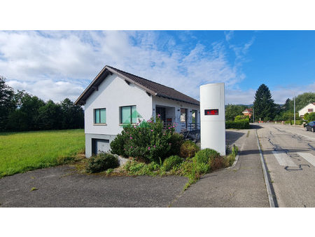
[[[84,128],[84,111],[69,98],[44,102],[25,90],[17,93],[0,76],[0,131]]]

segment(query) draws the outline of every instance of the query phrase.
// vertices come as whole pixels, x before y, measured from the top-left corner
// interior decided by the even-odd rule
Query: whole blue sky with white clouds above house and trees
[[[265,83],[277,103],[315,91],[315,32],[1,31],[0,75],[15,90],[76,100],[105,65],[199,99],[224,82],[226,104],[251,104]]]

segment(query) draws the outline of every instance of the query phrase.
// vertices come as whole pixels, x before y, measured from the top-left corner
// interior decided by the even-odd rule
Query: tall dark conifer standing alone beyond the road
[[[255,101],[253,103],[255,109],[255,118],[263,120],[272,120],[276,113],[276,104],[272,100],[269,88],[265,84],[261,84],[255,93]]]

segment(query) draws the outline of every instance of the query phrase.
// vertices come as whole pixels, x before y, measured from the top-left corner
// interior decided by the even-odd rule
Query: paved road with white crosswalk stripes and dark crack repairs
[[[258,137],[279,207],[315,207],[315,133],[266,123]]]

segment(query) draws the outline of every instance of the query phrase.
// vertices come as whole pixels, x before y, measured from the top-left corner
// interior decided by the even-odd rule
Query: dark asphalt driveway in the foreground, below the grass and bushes
[[[81,175],[64,165],[3,177],[0,207],[167,207],[187,181],[176,176]]]

